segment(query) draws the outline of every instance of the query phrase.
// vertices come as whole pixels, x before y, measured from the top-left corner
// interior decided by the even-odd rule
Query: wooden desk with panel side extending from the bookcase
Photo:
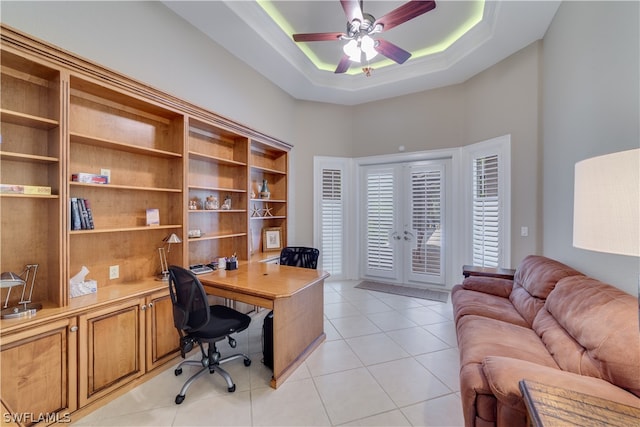
[[[198,276],[211,295],[273,310],[273,388],[326,338],[323,288],[327,277],[319,270],[262,262]]]

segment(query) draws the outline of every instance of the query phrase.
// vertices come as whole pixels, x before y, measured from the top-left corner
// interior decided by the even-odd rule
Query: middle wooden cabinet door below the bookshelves
[[[141,299],[80,316],[80,406],[145,372],[145,316]]]

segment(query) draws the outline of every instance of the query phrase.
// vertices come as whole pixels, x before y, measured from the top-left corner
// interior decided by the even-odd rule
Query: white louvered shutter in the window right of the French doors
[[[500,264],[500,199],[498,155],[473,160],[473,264]]]

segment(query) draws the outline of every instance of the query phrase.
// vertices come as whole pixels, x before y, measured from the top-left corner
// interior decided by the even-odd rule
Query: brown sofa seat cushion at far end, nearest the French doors
[[[451,303],[456,322],[462,316],[474,314],[529,327],[529,324],[513,307],[508,298],[469,290],[463,286],[456,285],[451,292]]]

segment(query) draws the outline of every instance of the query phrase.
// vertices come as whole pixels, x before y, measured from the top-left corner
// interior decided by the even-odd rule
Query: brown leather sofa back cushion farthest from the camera
[[[558,261],[529,255],[518,265],[509,299],[531,325],[558,280],[577,275],[582,276],[582,273]]]

